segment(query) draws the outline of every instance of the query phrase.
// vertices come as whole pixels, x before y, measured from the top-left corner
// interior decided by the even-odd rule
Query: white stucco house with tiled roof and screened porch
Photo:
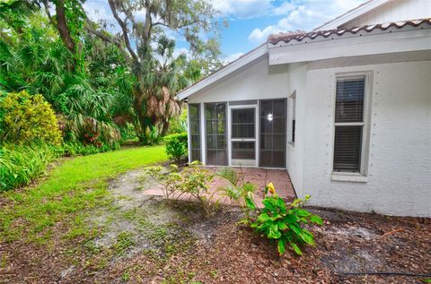
[[[431,217],[431,1],[272,35],[178,98],[190,160],[286,168],[316,206]]]

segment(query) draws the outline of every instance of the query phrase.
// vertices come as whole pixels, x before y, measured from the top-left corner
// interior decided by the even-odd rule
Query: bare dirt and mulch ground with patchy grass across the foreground
[[[427,277],[345,275],[431,273],[431,220],[311,209],[325,219],[311,228],[316,247],[301,257],[275,244],[224,207],[206,219],[192,202],[143,194],[151,182],[132,171],[110,182],[113,206],[91,212],[92,239],[48,245],[0,244],[0,283],[422,283]]]

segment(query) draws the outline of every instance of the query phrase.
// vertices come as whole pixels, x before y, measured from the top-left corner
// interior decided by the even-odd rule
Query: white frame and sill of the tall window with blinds
[[[331,163],[331,178],[332,180],[340,181],[354,181],[366,182],[368,176],[368,160],[369,160],[369,144],[370,144],[370,121],[371,121],[371,101],[372,101],[372,79],[373,72],[353,72],[353,73],[336,73],[333,90],[333,129],[332,129],[332,163]],[[364,115],[363,122],[360,123],[336,123],[335,110],[337,104],[337,82],[339,79],[358,79],[365,78],[365,91],[364,91]],[[336,126],[355,126],[361,125],[362,127],[362,142],[361,142],[361,167],[358,173],[339,172],[334,171],[334,156],[335,156],[335,128]]]

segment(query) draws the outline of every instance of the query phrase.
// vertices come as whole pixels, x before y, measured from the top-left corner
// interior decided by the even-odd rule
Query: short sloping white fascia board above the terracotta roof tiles
[[[320,27],[317,27],[314,30],[334,30],[338,29],[339,26],[350,22],[352,20],[355,20],[356,18],[365,15],[366,13],[369,13],[370,11],[374,10],[375,8],[388,3],[391,0],[372,0],[368,3],[359,5],[356,7],[356,9],[353,9],[352,11],[345,13],[334,20],[330,22],[326,22]]]

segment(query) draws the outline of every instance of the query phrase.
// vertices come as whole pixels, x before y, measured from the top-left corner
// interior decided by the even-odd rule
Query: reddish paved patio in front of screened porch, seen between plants
[[[216,172],[217,167],[206,167],[211,171]],[[259,190],[255,193],[255,201],[258,205],[261,205],[261,201],[263,199],[263,193],[265,189],[265,185],[272,182],[276,188],[277,194],[280,197],[286,199],[286,201],[292,201],[295,199],[295,189],[290,181],[290,176],[287,173],[286,169],[275,169],[275,168],[235,168],[237,172],[242,170],[242,174],[244,175],[244,180],[246,182],[255,184],[259,186]],[[227,181],[225,181],[222,177],[215,177],[211,188],[215,191],[218,187],[229,185]],[[148,195],[163,195],[163,191],[161,185],[154,184],[150,188],[146,189],[144,194]],[[217,194],[215,194],[217,195]],[[220,196],[221,201],[225,204],[229,204],[230,201],[227,198],[223,198]],[[182,200],[191,200],[192,197],[186,194],[181,195],[180,199]]]

